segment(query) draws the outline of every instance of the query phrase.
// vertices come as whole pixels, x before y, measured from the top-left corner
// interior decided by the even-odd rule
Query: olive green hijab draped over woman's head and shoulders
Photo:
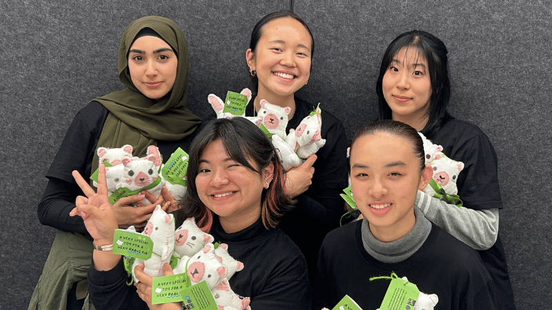
[[[128,51],[140,30],[150,28],[157,32],[178,57],[175,85],[166,96],[149,99],[130,79]],[[109,111],[103,125],[97,147],[122,147],[132,145],[134,156],[146,155],[148,145],[157,140],[175,141],[193,134],[201,119],[186,108],[188,93],[188,48],[184,33],[178,25],[164,17],[148,16],[132,21],[119,44],[119,80],[127,87],[118,92],[95,99]],[[92,161],[92,169],[98,167],[98,156]]]

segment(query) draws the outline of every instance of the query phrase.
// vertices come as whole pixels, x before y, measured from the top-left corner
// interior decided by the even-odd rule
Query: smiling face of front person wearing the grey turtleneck
[[[386,132],[360,136],[350,161],[355,203],[375,238],[391,242],[408,234],[416,221],[417,190],[431,178],[431,169],[420,172],[412,143]]]

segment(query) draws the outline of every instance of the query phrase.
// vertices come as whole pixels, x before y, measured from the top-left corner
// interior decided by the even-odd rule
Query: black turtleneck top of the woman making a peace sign
[[[182,219],[177,220],[176,227]],[[230,288],[250,297],[251,309],[297,309],[311,307],[311,287],[301,251],[279,229],[265,229],[262,220],[233,234],[226,234],[215,218],[210,234],[226,243],[228,253],[244,263],[230,278]],[[121,262],[110,271],[88,271],[88,291],[97,309],[148,309],[128,280]]]

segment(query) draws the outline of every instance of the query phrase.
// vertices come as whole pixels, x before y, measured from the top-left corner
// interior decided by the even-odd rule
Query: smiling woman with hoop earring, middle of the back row
[[[255,99],[246,116],[255,116],[262,99],[290,107],[286,133],[315,109],[315,105],[295,96],[308,82],[314,41],[306,23],[290,12],[274,12],[263,17],[251,34],[246,61]],[[297,200],[295,209],[282,218],[281,227],[302,250],[310,276],[314,275],[317,253],[324,236],[339,226],[344,203],[339,194],[347,187],[345,128],[321,103],[322,138],[326,145],[303,165],[286,173],[286,194]]]

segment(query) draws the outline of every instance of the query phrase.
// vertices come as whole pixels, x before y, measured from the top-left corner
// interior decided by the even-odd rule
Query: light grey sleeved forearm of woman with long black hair
[[[476,250],[489,249],[498,235],[498,209],[474,210],[449,205],[418,191],[415,205],[426,218]]]

